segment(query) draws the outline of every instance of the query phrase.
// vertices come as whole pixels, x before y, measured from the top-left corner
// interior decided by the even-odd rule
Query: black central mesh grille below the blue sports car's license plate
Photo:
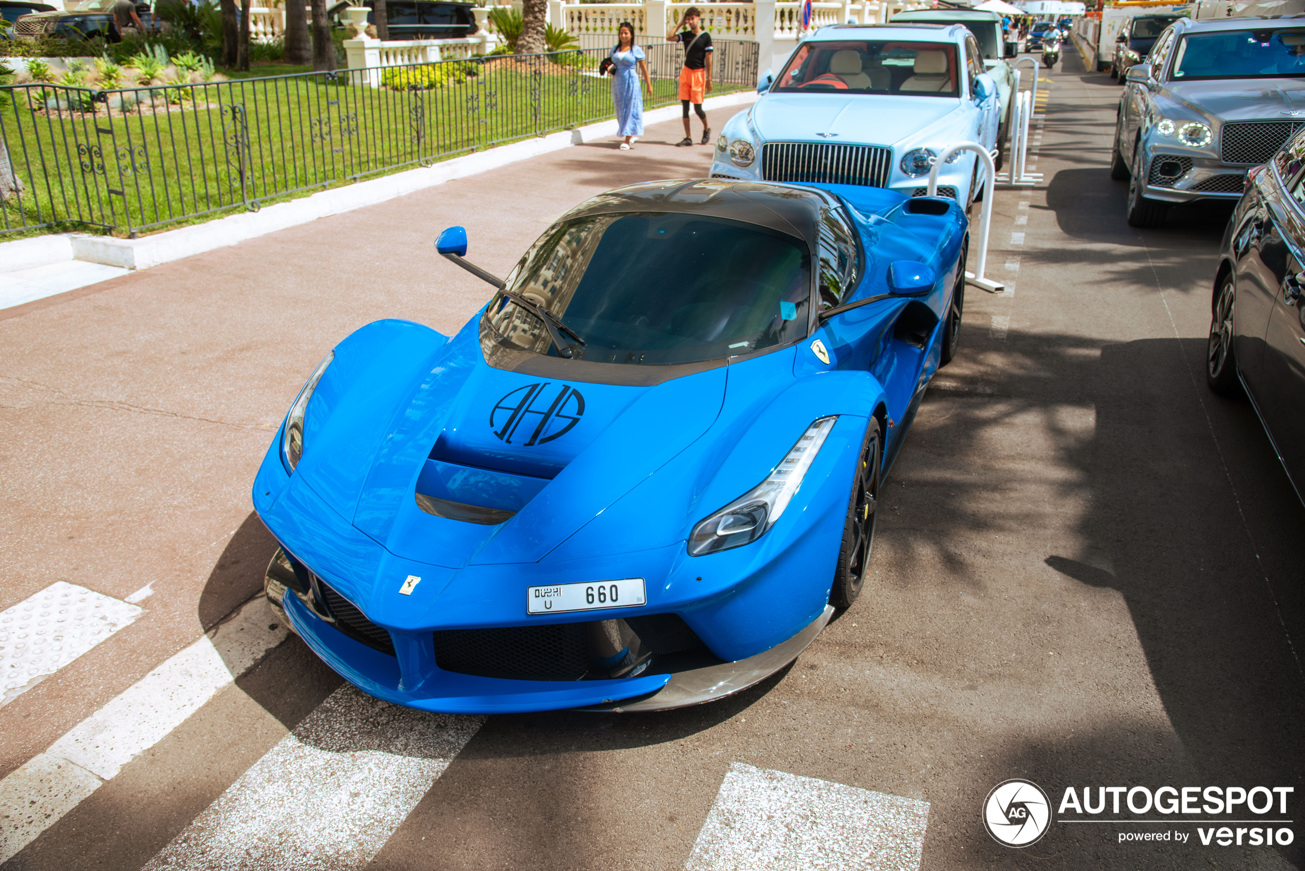
[[[654,655],[681,653],[702,642],[677,614],[626,618]],[[433,632],[435,661],[445,672],[515,681],[578,681],[589,672],[589,623]]]

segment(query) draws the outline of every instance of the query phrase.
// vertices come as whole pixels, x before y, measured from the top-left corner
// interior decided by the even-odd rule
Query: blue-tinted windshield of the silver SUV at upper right
[[[1225,30],[1182,38],[1173,78],[1305,76],[1305,30]]]

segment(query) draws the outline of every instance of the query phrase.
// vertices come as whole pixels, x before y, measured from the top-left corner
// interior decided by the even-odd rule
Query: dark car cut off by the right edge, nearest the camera
[[[1250,396],[1305,501],[1305,132],[1250,172],[1228,220],[1211,304],[1206,378]]]

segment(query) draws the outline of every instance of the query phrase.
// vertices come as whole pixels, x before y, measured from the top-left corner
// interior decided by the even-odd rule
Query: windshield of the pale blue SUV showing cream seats
[[[773,91],[957,96],[957,47],[941,42],[806,42],[775,81]]]

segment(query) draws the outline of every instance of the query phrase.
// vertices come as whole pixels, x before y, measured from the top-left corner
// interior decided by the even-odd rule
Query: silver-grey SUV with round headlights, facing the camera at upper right
[[[1128,72],[1111,177],[1129,180],[1129,224],[1169,203],[1237,199],[1246,170],[1305,125],[1305,16],[1176,21]]]

